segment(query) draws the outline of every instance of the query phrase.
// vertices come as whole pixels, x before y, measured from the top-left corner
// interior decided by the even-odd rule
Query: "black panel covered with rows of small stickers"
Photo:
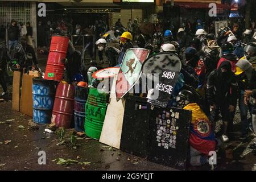
[[[185,170],[189,148],[191,111],[150,107],[151,162]]]

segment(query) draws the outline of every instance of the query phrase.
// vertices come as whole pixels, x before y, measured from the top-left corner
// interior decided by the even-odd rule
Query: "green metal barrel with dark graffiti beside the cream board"
[[[101,130],[106,115],[108,94],[90,88],[85,104],[85,134],[90,138],[100,139]]]

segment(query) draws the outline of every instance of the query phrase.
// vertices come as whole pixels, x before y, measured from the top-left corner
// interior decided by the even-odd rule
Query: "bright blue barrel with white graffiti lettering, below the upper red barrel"
[[[33,78],[33,120],[36,123],[51,123],[52,107],[58,82]]]

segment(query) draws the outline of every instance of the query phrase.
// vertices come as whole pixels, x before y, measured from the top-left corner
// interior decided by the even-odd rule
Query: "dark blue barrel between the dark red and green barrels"
[[[75,130],[84,132],[85,103],[88,98],[89,88],[75,86]]]

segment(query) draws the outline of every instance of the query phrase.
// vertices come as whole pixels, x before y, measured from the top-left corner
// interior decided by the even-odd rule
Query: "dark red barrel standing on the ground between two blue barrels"
[[[74,113],[75,86],[59,83],[52,110],[52,120],[57,127],[69,128]]]

